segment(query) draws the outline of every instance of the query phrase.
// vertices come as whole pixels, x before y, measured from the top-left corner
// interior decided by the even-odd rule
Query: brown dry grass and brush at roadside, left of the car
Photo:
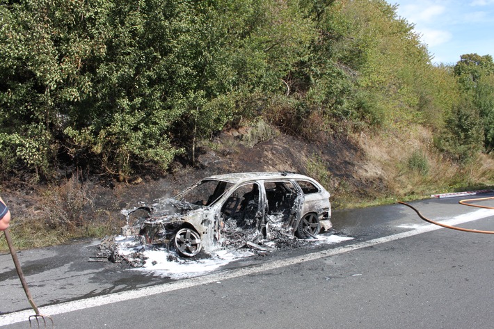
[[[31,207],[13,211],[10,232],[16,249],[55,246],[74,239],[115,234],[122,224],[121,218],[110,211],[93,207],[93,195],[77,176],[58,186],[47,186],[37,194]],[[0,251],[7,250],[5,239],[0,239]]]

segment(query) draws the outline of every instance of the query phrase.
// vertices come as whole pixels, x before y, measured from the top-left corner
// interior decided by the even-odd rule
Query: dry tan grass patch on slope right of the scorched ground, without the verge
[[[381,177],[395,198],[425,198],[433,193],[465,191],[494,185],[494,159],[480,154],[468,164],[445,158],[432,143],[432,134],[417,126],[387,136],[358,136],[367,154],[360,175]]]

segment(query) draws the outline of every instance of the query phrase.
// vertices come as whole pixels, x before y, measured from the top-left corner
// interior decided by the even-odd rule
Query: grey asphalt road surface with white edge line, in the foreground
[[[434,220],[494,230],[494,210],[459,200],[412,204]],[[19,259],[55,328],[494,328],[493,234],[430,225],[401,204],[336,211],[333,225],[353,239],[184,280],[88,262],[98,241]],[[0,326],[27,328],[32,311],[22,311],[29,304],[13,268],[0,255]]]

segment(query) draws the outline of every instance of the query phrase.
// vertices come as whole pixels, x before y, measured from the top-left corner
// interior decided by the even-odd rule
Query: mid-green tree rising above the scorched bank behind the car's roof
[[[252,119],[250,102],[289,90],[291,72],[307,56],[312,23],[297,1],[209,1],[196,6],[200,58],[190,79],[187,115],[178,126],[191,140],[209,138],[234,117]],[[289,91],[286,92],[289,94]],[[252,104],[252,103],[251,103]],[[182,138],[183,139],[183,138]]]

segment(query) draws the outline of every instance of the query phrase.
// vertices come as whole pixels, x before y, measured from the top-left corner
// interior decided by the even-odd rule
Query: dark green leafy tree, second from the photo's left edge
[[[165,169],[180,151],[170,144],[168,131],[186,110],[182,89],[189,67],[177,57],[189,54],[193,10],[180,1],[118,0],[111,2],[105,22],[105,53],[92,81],[97,93],[84,100],[91,111],[72,113],[64,131],[70,151],[94,154],[120,179],[133,163]]]

